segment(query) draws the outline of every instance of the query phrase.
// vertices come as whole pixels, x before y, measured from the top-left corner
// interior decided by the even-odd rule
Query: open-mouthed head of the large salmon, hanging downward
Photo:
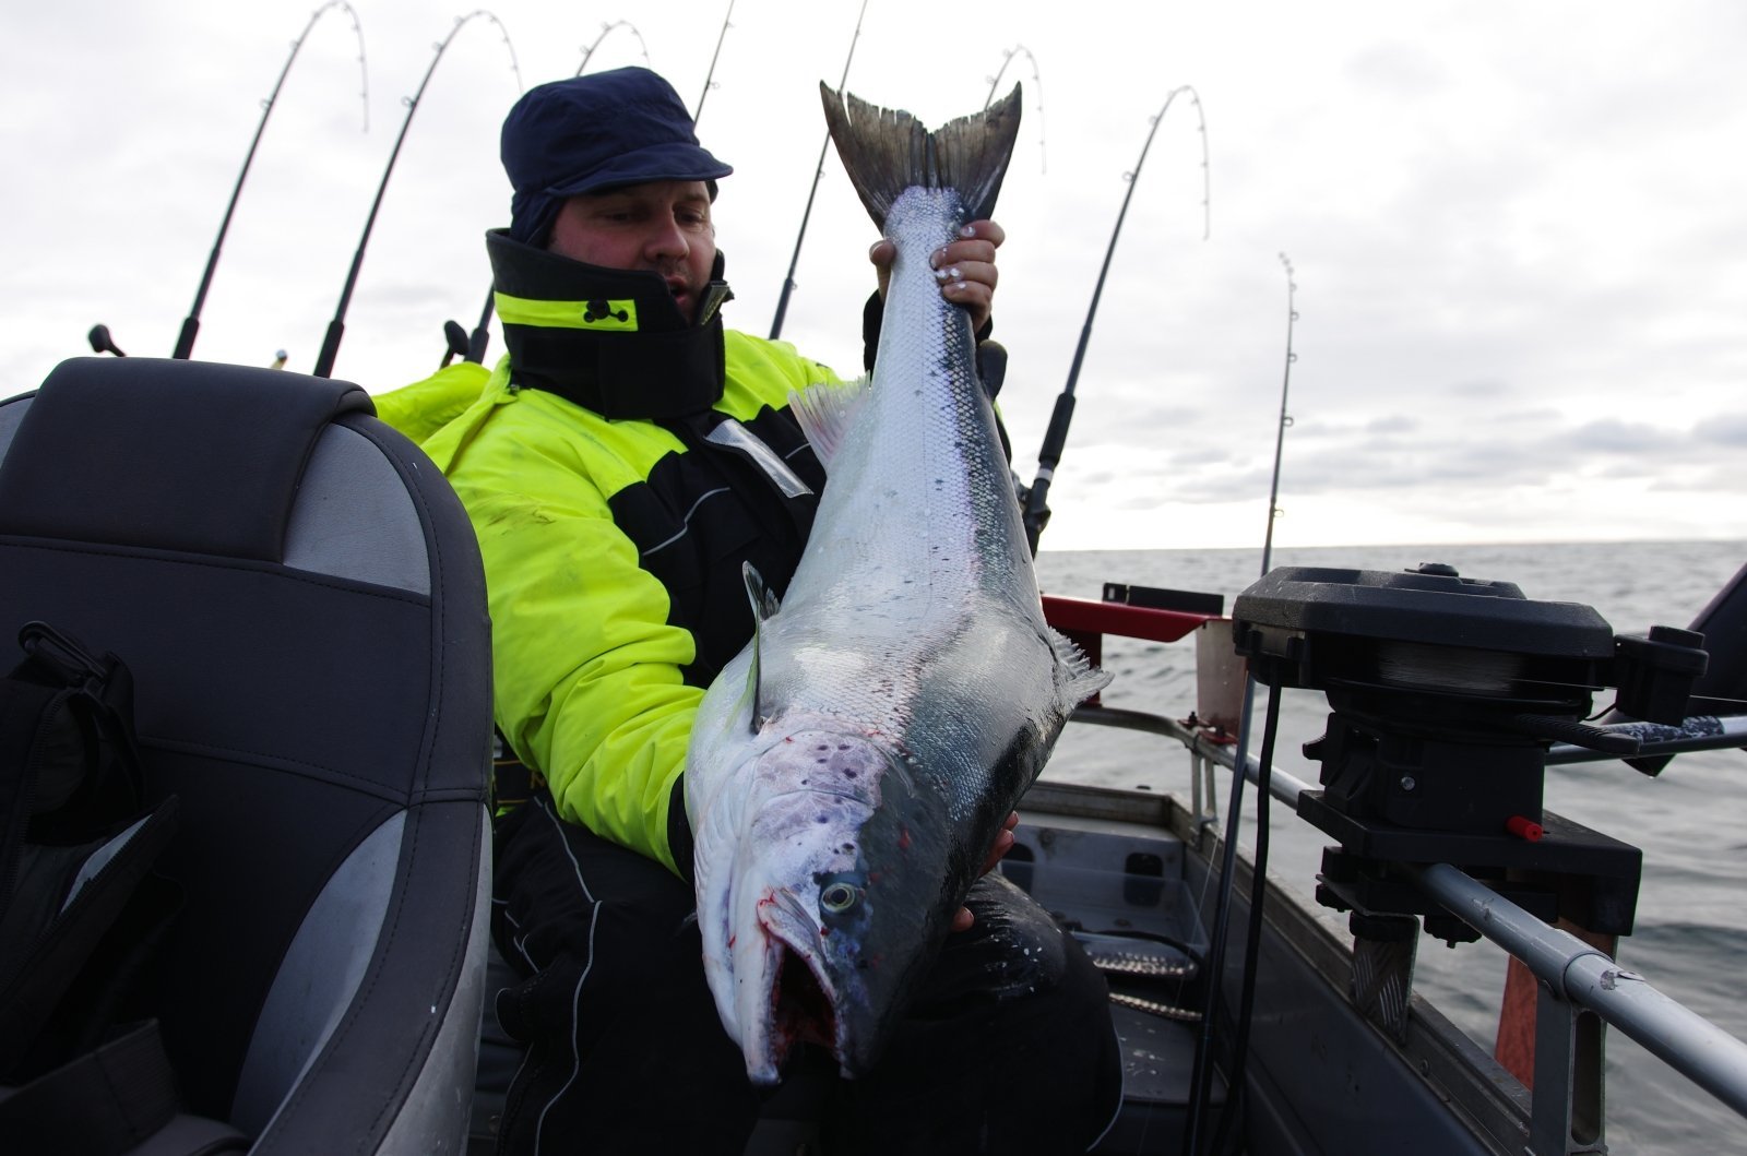
[[[793,730],[758,763],[723,910],[699,912],[725,924],[716,1006],[755,1083],[776,1083],[800,1042],[867,1074],[957,903],[943,809],[856,730]]]

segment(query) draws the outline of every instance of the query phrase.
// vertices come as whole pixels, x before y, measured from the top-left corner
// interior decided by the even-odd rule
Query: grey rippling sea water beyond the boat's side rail
[[[1349,566],[1398,571],[1448,562],[1464,578],[1516,583],[1523,595],[1593,606],[1614,632],[1686,627],[1747,562],[1747,541],[1626,545],[1331,547],[1275,550],[1272,566]],[[1045,552],[1046,594],[1097,599],[1104,581],[1223,594],[1232,599],[1261,573],[1261,550]],[[1158,644],[1106,639],[1104,692],[1113,707],[1183,718],[1195,697],[1193,639]],[[1258,688],[1256,719],[1265,688]],[[1315,763],[1302,746],[1322,733],[1328,707],[1315,692],[1284,692],[1274,765],[1307,782]],[[1607,692],[1597,709],[1607,705]],[[1253,747],[1254,749],[1254,747]],[[1188,798],[1188,761],[1174,744],[1102,726],[1069,726],[1046,777],[1174,791]],[[1216,791],[1225,809],[1230,781]],[[1246,810],[1254,791],[1246,791]],[[1747,751],[1675,758],[1651,779],[1625,763],[1548,768],[1546,807],[1644,850],[1637,924],[1619,960],[1658,990],[1738,1039],[1747,1039]],[[1242,836],[1253,847],[1253,821]],[[1274,805],[1268,873],[1310,896],[1321,849],[1315,828]],[[1314,906],[1314,905],[1312,905]],[[1345,917],[1328,912],[1345,934]],[[1740,953],[1737,953],[1740,952]],[[1504,987],[1504,952],[1490,943],[1447,948],[1420,938],[1417,990],[1488,1051]],[[1614,1153],[1747,1153],[1747,1121],[1689,1084],[1642,1046],[1607,1034],[1607,1144]]]

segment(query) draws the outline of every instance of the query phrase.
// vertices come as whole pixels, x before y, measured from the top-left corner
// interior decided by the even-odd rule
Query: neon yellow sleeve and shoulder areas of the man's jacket
[[[741,423],[784,423],[786,414],[770,410],[788,405],[790,389],[839,382],[784,342],[727,330],[723,344],[727,386],[715,409]],[[673,496],[645,491],[657,468],[671,477],[676,463],[688,464],[674,456],[692,451],[662,424],[610,421],[512,386],[508,358],[489,379],[482,367],[454,365],[376,403],[384,421],[423,445],[473,520],[491,606],[498,728],[543,774],[564,819],[680,871],[669,805],[713,676],[713,667],[697,669],[699,643],[685,620],[704,611],[695,599],[681,606],[650,568],[652,545],[639,548],[615,513],[671,506]],[[697,510],[713,517],[701,498]],[[667,513],[683,520],[692,510]],[[720,592],[709,599],[713,608],[727,604],[742,615],[730,627],[737,650],[751,636],[744,590],[727,602]]]

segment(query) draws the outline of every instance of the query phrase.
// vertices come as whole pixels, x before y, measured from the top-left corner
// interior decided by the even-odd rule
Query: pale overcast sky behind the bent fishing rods
[[[0,395],[93,323],[168,356],[309,0],[14,3],[0,38]],[[435,45],[335,365],[372,391],[472,328],[519,86],[648,63],[735,166],[716,204],[770,328],[858,0],[330,7],[290,72],[196,356],[314,365]],[[494,19],[493,19],[494,17]],[[498,23],[494,23],[498,21]],[[613,26],[617,21],[629,24]],[[604,35],[603,35],[604,31]],[[1078,381],[1050,548],[1260,545],[1300,318],[1275,545],[1747,538],[1747,5],[868,0],[849,89],[929,122],[1024,86],[996,217],[1022,475]],[[512,70],[512,52],[519,73]],[[1012,56],[1010,56],[1012,54]],[[1202,239],[1202,136],[1211,237]],[[860,360],[872,224],[835,155],[783,337]],[[493,360],[501,341],[493,337]]]

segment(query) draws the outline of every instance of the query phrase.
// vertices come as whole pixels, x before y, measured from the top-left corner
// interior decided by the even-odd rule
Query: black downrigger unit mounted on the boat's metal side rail
[[[1322,791],[1298,814],[1333,835],[1317,901],[1368,919],[1424,915],[1452,945],[1478,932],[1424,898],[1401,864],[1450,863],[1553,922],[1630,934],[1642,852],[1541,805],[1546,754],[1569,742],[1621,758],[1637,739],[1586,725],[1592,695],[1681,723],[1703,636],[1616,636],[1590,606],[1536,602],[1508,581],[1415,571],[1281,568],[1237,597],[1237,651],[1274,688],[1328,695],[1305,744]]]

